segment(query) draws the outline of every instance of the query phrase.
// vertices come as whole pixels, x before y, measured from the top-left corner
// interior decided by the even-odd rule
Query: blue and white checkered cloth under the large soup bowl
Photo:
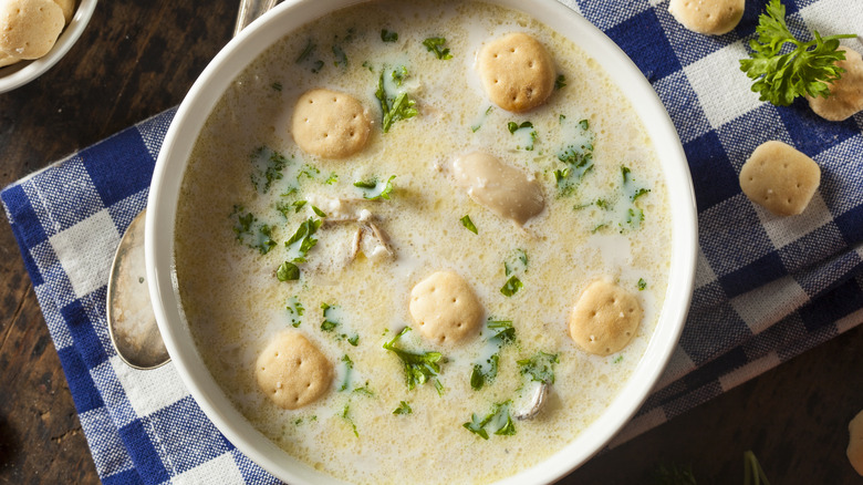
[[[699,213],[695,296],[679,347],[614,445],[863,322],[863,113],[831,123],[805,102],[774,107],[749,91],[738,60],[766,0],[749,0],[738,28],[718,38],[685,30],[668,0],[564,3],[617,42],[659,94],[684,143]],[[860,0],[783,3],[792,30],[863,27]],[[844,43],[863,52],[860,38]],[[104,483],[278,483],[216,430],[171,364],[132,370],[108,340],[111,260],[146,204],[173,115],[7,187],[7,217]],[[768,140],[821,166],[821,187],[800,216],[774,217],[740,192],[740,166]]]

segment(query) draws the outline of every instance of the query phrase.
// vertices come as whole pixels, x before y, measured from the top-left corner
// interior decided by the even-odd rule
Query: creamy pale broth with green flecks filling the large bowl
[[[383,29],[397,32],[398,40],[383,42]],[[492,106],[474,65],[484,42],[512,31],[542,42],[565,79],[544,105],[522,114]],[[451,59],[427,51],[423,41],[433,37],[446,39]],[[298,62],[310,45],[314,49]],[[344,59],[346,66],[336,65]],[[418,114],[383,133],[375,90],[383,69],[388,78],[401,65],[408,73],[401,89],[416,100]],[[360,153],[320,159],[297,147],[290,133],[293,106],[313,87],[349,93],[368,110],[375,123]],[[387,89],[395,89],[392,81]],[[531,130],[508,130],[509,122],[527,121],[536,132],[533,149],[526,149]],[[565,167],[558,155],[571,144],[592,144],[593,168],[563,194],[554,171]],[[262,146],[288,159],[266,193],[266,176],[256,175],[266,159],[253,155]],[[477,149],[536,176],[544,210],[518,227],[457,188],[453,159]],[[631,177],[625,186],[622,167]],[[349,261],[356,225],[324,224],[308,260],[298,264],[300,280],[277,278],[289,258],[283,241],[310,217],[321,219],[312,205],[332,218],[340,210],[333,200],[362,198],[354,182],[392,175],[391,199],[353,202],[344,210],[371,213],[388,236],[393,258],[361,254]],[[637,188],[649,192],[633,203]],[[277,210],[295,200],[308,203],[299,211]],[[271,228],[275,246],[267,254],[238,240],[238,215],[246,214],[256,217],[251,227]],[[478,234],[461,224],[466,215]],[[185,317],[214,378],[289,454],[355,483],[489,483],[562,448],[626,382],[663,305],[669,223],[651,141],[613,80],[576,45],[523,13],[479,2],[374,2],[312,22],[278,42],[222,96],[183,180],[176,277]],[[500,291],[509,278],[505,262],[519,266],[519,250],[528,257],[526,268],[516,270],[523,287],[507,297]],[[497,350],[487,329],[458,347],[407,332],[399,347],[445,357],[439,375],[413,390],[401,360],[383,349],[413,324],[410,289],[437,270],[461,275],[486,317],[514,328],[516,341],[500,348],[497,376],[478,391],[470,385],[474,364]],[[573,305],[597,278],[617,281],[644,309],[636,337],[609,357],[582,351],[568,334]],[[334,307],[326,314],[339,323],[332,332],[321,328],[323,303]],[[275,406],[254,382],[258,354],[285,330],[302,332],[336,371],[323,399],[294,411]],[[496,403],[511,401],[512,411],[526,405],[523,394],[532,388],[517,360],[538,351],[559,361],[540,414],[513,420],[512,435],[490,430],[488,440],[464,427]],[[353,363],[350,371],[345,355]],[[409,414],[393,413],[402,401]]]

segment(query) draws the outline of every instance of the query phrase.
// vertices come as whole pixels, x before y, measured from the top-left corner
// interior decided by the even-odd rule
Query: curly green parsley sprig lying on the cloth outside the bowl
[[[813,31],[814,40],[803,42],[794,37],[786,23],[786,7],[780,0],[771,0],[766,13],[758,18],[758,40],[751,40],[750,59],[740,60],[740,70],[755,80],[752,91],[761,101],[777,106],[788,106],[796,97],[830,95],[826,83],[842,78],[844,69],[835,65],[845,59],[838,50],[840,39],[854,34],[822,38]],[[786,44],[791,44],[790,51]]]

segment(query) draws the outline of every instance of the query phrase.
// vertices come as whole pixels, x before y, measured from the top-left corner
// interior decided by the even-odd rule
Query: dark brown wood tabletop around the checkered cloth
[[[103,0],[50,72],[0,94],[0,185],[178,104],[227,43],[236,0]],[[651,483],[661,464],[742,484],[752,450],[777,484],[863,483],[845,457],[863,409],[856,328],[573,472],[565,484]],[[98,483],[9,225],[0,223],[0,484]]]

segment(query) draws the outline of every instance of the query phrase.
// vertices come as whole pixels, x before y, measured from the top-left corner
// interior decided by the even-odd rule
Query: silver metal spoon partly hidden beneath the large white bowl
[[[240,0],[233,37],[254,19],[275,7],[278,0]],[[108,276],[108,334],[119,359],[135,369],[156,369],[170,361],[162,341],[149,292],[144,262],[144,219],[142,210],[129,224],[114,254]]]

